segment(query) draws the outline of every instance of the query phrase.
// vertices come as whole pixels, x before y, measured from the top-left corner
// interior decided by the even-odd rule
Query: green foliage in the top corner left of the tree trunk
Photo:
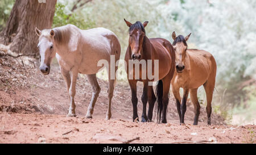
[[[5,27],[5,24],[10,16],[15,0],[0,1],[0,31]]]

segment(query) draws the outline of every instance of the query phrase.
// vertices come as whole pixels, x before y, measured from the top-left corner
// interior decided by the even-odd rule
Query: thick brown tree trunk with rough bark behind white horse
[[[39,3],[43,2],[43,3]],[[39,55],[40,30],[51,28],[57,0],[16,0],[6,27],[0,33],[0,43],[10,45],[10,50],[23,55]]]

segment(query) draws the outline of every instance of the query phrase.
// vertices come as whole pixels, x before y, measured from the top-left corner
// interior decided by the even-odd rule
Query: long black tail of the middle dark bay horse
[[[158,123],[160,123],[162,111],[163,111],[163,81],[158,81],[158,85],[156,86],[156,104],[157,106],[157,117]]]

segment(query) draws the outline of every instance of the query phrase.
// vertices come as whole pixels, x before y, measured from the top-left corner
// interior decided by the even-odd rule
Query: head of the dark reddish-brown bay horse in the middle
[[[124,19],[125,20],[125,19]],[[129,47],[131,48],[131,59],[140,60],[141,59],[141,51],[142,44],[144,40],[144,36],[146,36],[146,31],[144,27],[147,26],[148,22],[136,22],[131,24],[127,20],[125,20],[129,28]]]

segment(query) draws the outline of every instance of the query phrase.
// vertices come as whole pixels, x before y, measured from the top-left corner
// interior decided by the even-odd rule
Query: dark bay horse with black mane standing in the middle
[[[150,66],[146,64],[146,68],[139,66],[138,70],[135,70],[135,67],[131,68],[126,65],[126,72],[128,76],[129,85],[131,87],[131,102],[133,103],[133,121],[138,119],[138,98],[137,98],[137,82],[143,82],[143,94],[142,94],[142,103],[143,103],[143,112],[142,112],[142,122],[151,122],[152,121],[152,112],[154,110],[155,101],[158,101],[158,122],[160,122],[161,116],[162,123],[167,123],[166,113],[167,105],[169,100],[169,90],[171,85],[171,79],[174,76],[175,72],[175,52],[172,44],[162,38],[152,38],[148,39],[144,27],[147,26],[148,22],[136,22],[131,24],[125,20],[127,26],[129,27],[129,46],[127,47],[125,62],[142,60],[151,60],[152,61],[152,74],[155,74],[156,69],[154,70],[154,62],[159,60],[158,70],[158,79],[149,79],[148,76],[143,78],[142,74],[144,72],[148,73],[148,68]],[[151,72],[150,71],[150,72]],[[139,78],[135,78],[135,72],[139,72]],[[129,78],[131,75],[133,78]],[[156,96],[152,85],[148,85],[149,82],[158,81],[158,86],[156,89]],[[146,115],[146,106],[148,102],[148,113]]]

